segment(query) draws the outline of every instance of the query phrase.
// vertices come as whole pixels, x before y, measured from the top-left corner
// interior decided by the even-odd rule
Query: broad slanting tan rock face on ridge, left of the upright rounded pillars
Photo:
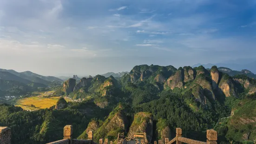
[[[183,87],[183,69],[179,69],[173,76],[167,79],[166,84],[173,90],[175,87]],[[166,87],[165,87],[166,88]]]

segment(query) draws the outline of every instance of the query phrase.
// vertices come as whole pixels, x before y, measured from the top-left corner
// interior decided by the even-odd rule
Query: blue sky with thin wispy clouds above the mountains
[[[95,75],[256,61],[256,0],[0,0],[0,68]]]

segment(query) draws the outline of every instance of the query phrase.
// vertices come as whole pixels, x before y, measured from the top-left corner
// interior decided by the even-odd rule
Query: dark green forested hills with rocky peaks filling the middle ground
[[[256,138],[255,116],[248,111],[256,110],[255,93],[255,79],[231,77],[217,66],[137,65],[120,78],[68,79],[54,94],[80,102],[58,110],[1,105],[0,125],[21,131],[14,132],[17,144],[59,140],[66,124],[75,125],[75,138],[94,131],[96,141],[114,140],[118,132],[147,132],[152,141],[173,138],[180,127],[184,137],[200,141],[206,140],[207,129],[215,129],[222,144],[249,143]]]

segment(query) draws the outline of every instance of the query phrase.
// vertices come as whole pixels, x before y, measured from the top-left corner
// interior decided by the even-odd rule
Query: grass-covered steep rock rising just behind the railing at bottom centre
[[[132,136],[133,132],[146,132],[147,140],[151,143],[153,135],[153,116],[151,113],[138,112],[134,116],[128,135]]]

